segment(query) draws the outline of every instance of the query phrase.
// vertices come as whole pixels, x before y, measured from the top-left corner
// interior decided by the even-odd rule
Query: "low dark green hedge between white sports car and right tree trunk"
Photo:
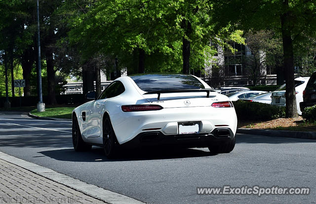
[[[233,101],[238,120],[269,121],[285,117],[285,107],[266,103]]]

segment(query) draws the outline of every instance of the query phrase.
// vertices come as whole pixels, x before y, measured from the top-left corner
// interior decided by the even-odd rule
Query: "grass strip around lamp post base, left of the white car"
[[[37,109],[31,111],[31,114],[47,117],[47,118],[65,118],[71,119],[72,111],[76,107],[55,107],[55,108],[45,108],[44,112],[38,112]]]

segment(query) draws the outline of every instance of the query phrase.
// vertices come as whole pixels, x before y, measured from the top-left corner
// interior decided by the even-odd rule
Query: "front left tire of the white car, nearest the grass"
[[[86,144],[82,139],[76,116],[73,117],[72,135],[73,135],[73,145],[76,152],[91,150],[92,145]]]

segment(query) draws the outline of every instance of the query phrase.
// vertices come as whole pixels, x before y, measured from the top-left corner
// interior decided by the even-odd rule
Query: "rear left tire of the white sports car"
[[[108,159],[114,159],[118,156],[119,144],[108,115],[104,116],[102,130],[105,156]]]

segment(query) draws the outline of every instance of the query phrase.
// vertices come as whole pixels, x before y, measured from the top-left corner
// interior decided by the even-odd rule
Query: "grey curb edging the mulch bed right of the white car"
[[[237,133],[264,135],[264,136],[269,136],[269,137],[289,137],[289,138],[299,138],[299,139],[316,139],[316,132],[299,132],[299,131],[287,131],[287,130],[238,128]]]

